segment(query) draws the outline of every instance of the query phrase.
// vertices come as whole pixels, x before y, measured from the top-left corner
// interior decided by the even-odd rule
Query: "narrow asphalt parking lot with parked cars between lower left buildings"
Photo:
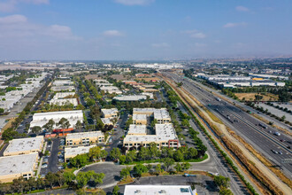
[[[64,150],[63,145],[65,140],[60,138],[54,138],[48,141],[46,151],[49,151],[49,155],[45,155],[42,160],[42,169],[40,175],[44,176],[49,172],[58,172],[63,169],[64,163]]]

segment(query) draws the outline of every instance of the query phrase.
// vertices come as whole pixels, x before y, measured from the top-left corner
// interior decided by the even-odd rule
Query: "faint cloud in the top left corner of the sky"
[[[0,12],[14,12],[18,4],[50,4],[50,0],[6,0],[0,2]]]

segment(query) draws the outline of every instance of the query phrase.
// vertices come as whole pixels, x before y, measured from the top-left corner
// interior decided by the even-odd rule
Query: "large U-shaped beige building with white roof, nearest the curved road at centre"
[[[171,123],[156,124],[155,135],[146,135],[143,134],[142,131],[142,127],[137,130],[132,129],[130,134],[128,133],[125,137],[123,146],[130,149],[131,147],[138,148],[141,145],[143,147],[148,147],[150,143],[156,143],[159,149],[162,147],[173,147],[174,149],[180,147],[179,138],[176,135],[173,124]]]

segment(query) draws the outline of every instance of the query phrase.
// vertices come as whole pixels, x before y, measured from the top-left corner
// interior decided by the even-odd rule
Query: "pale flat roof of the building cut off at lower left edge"
[[[15,175],[34,171],[34,165],[38,153],[30,153],[0,158],[0,176]]]

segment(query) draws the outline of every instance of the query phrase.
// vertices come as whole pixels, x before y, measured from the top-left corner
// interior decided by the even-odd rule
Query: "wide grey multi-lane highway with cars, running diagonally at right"
[[[271,160],[275,166],[281,166],[283,172],[291,178],[291,164],[281,164],[283,159],[292,159],[292,152],[288,146],[292,147],[287,141],[292,141],[290,136],[275,136],[277,129],[265,125],[265,128],[259,126],[258,121],[249,113],[242,112],[236,106],[221,100],[213,95],[213,93],[199,87],[195,81],[186,79],[178,74],[163,73],[168,78],[172,78],[174,82],[182,82],[182,87],[188,90],[197,100],[209,108],[211,113],[219,117],[227,127],[234,130],[239,136],[251,144],[258,152],[263,154],[268,160]],[[277,151],[274,153],[272,150]],[[281,152],[282,154],[280,154]]]

